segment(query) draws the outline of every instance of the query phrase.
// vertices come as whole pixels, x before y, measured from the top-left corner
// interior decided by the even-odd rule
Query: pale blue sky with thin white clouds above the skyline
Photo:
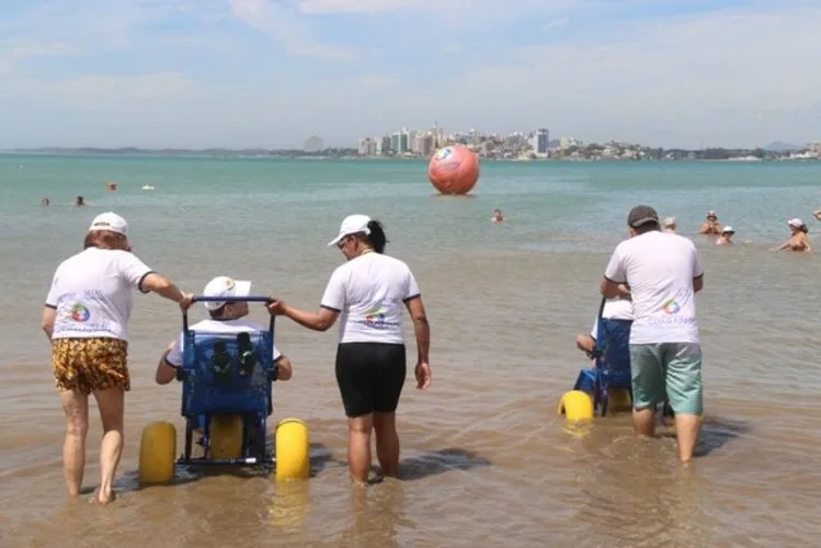
[[[0,148],[821,140],[818,0],[0,0]]]

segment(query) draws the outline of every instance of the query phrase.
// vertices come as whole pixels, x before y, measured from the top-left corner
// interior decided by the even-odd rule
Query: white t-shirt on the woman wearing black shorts
[[[333,271],[320,305],[340,312],[340,343],[403,344],[404,304],[419,296],[407,264],[369,252]]]

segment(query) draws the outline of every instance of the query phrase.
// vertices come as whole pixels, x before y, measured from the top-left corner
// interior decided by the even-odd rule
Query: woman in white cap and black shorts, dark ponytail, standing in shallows
[[[337,346],[337,384],[347,416],[347,463],[351,478],[367,481],[370,431],[376,432],[376,456],[381,472],[399,471],[396,409],[404,385],[406,350],[402,308],[413,319],[417,336],[417,388],[431,384],[427,363],[430,328],[421,293],[410,269],[385,255],[381,224],[366,215],[342,221],[337,246],[347,262],[337,267],[318,312],[307,312],[273,299],[269,311],[315,331],[326,331],[341,316]]]

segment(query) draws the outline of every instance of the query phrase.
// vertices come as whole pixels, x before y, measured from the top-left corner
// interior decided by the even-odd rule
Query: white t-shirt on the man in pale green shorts
[[[698,343],[693,278],[703,273],[696,247],[683,236],[652,230],[619,243],[604,276],[630,286],[630,344]]]

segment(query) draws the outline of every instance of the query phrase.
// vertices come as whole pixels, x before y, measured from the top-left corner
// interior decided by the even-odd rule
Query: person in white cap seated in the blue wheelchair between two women
[[[247,297],[251,294],[251,282],[233,279],[228,276],[217,276],[205,286],[205,297]],[[249,332],[265,331],[265,328],[250,320],[243,319],[248,316],[248,302],[246,301],[213,301],[203,302],[210,318],[191,326],[192,331],[218,334],[240,334]],[[169,343],[162,353],[160,363],[157,365],[155,380],[159,385],[167,385],[176,377],[176,369],[183,364],[183,333]],[[288,380],[293,374],[290,359],[283,355],[274,345],[274,366],[277,372],[277,380]]]

